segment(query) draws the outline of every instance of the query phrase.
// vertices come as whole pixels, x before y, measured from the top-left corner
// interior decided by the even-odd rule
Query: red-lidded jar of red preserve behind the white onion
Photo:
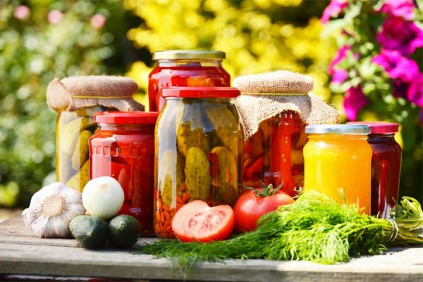
[[[94,115],[99,130],[90,138],[90,176],[111,176],[125,201],[118,214],[141,223],[141,235],[153,231],[154,125],[157,112],[106,112]]]

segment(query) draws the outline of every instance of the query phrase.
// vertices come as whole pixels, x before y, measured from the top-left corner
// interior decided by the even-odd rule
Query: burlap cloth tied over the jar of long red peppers
[[[283,111],[297,112],[306,124],[338,123],[339,112],[310,93],[313,85],[309,76],[290,71],[235,78],[233,86],[241,91],[235,106],[243,120],[245,139],[257,132],[262,121]]]

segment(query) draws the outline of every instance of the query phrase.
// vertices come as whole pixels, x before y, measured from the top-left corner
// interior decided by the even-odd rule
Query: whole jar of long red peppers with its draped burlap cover
[[[305,125],[339,121],[336,109],[310,93],[313,84],[312,78],[290,71],[233,80],[241,91],[235,105],[244,125],[244,185],[283,184],[290,195],[302,187]]]

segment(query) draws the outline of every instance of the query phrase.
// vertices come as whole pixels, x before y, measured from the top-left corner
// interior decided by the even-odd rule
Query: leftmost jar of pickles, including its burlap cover
[[[97,130],[99,111],[140,111],[132,99],[137,83],[116,76],[75,76],[54,79],[47,87],[47,104],[56,120],[56,180],[82,191],[90,180],[88,140]]]

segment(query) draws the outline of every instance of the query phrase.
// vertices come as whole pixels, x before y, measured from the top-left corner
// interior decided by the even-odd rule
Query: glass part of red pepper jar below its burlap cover
[[[283,111],[259,124],[244,142],[243,185],[260,188],[261,181],[296,195],[304,186],[305,123],[295,111]]]

